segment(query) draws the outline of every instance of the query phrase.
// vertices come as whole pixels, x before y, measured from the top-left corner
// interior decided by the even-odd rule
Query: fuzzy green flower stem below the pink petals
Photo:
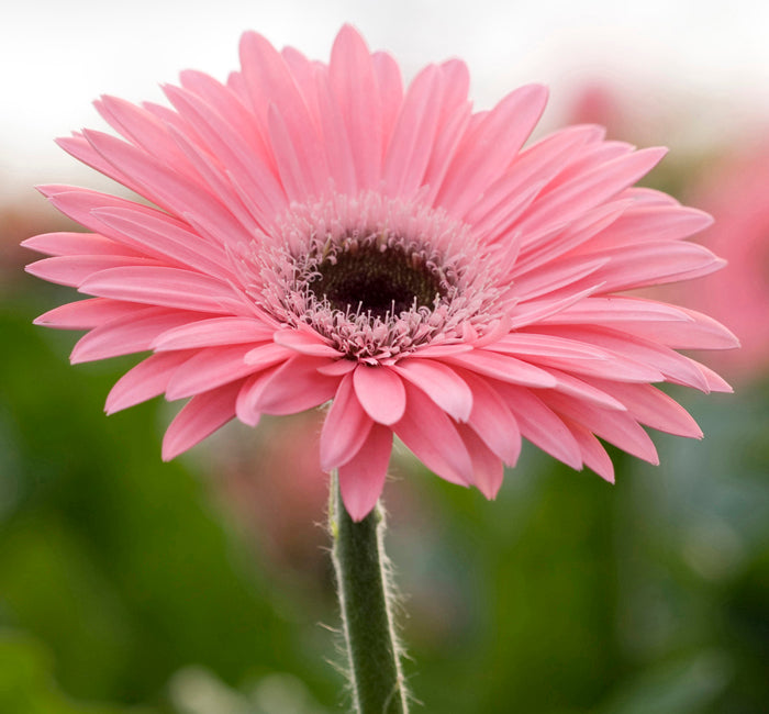
[[[355,523],[331,478],[330,526],[356,714],[408,714],[379,504]]]

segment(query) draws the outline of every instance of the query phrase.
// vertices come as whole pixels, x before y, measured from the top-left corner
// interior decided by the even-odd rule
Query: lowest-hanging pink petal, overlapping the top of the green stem
[[[363,521],[384,488],[392,450],[392,432],[379,424],[371,427],[360,450],[339,467],[339,489],[353,521]]]

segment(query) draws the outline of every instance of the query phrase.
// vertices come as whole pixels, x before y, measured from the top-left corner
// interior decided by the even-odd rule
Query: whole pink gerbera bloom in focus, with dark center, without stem
[[[163,457],[236,416],[331,402],[321,461],[356,520],[393,435],[438,476],[492,498],[522,437],[608,480],[598,437],[656,462],[640,424],[700,437],[653,382],[727,390],[677,348],[723,348],[713,320],[622,293],[722,265],[682,238],[710,223],[631,188],[659,161],[572,126],[524,148],[544,87],[473,112],[456,59],[404,90],[394,60],[344,27],[331,62],[248,33],[225,85],[185,71],[172,109],[103,97],[125,141],[83,131],[76,158],[156,208],[43,192],[92,233],[26,241],[29,267],[92,299],[37,323],[88,330],[81,362],[152,350],[112,413],[190,398]]]

